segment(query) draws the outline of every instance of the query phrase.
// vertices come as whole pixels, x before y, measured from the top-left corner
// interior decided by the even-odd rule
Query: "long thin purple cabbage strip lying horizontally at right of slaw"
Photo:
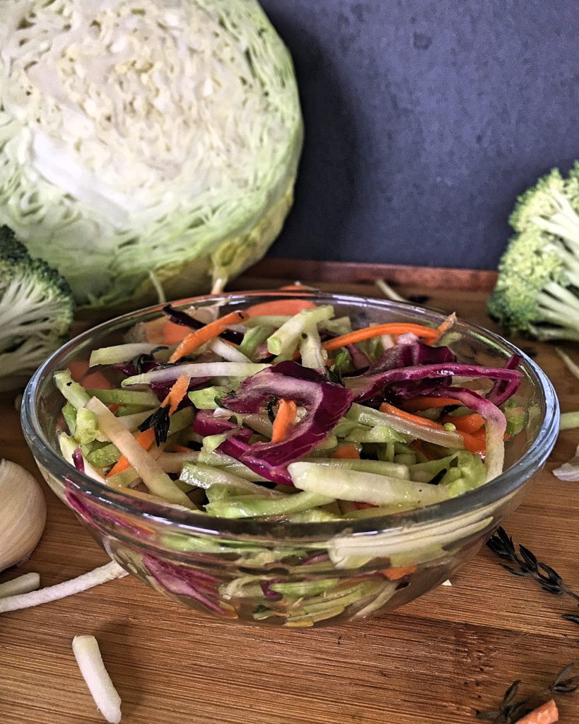
[[[262,373],[260,373],[262,374]],[[355,402],[369,400],[395,382],[422,382],[431,379],[451,379],[453,376],[472,377],[480,379],[506,380],[507,382],[520,379],[520,372],[510,369],[483,367],[473,364],[457,362],[428,364],[420,366],[389,369],[377,374],[365,374],[358,377],[348,377],[345,382],[352,391]],[[400,392],[397,392],[400,394]],[[426,394],[423,392],[422,394]]]

